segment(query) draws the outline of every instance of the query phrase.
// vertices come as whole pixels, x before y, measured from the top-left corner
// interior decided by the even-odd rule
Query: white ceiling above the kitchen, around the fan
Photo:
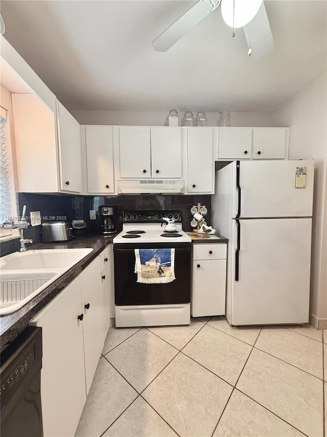
[[[69,110],[272,111],[326,70],[325,0],[265,1],[275,51],[247,55],[220,8],[165,53],[188,0],[2,0],[5,37]]]

